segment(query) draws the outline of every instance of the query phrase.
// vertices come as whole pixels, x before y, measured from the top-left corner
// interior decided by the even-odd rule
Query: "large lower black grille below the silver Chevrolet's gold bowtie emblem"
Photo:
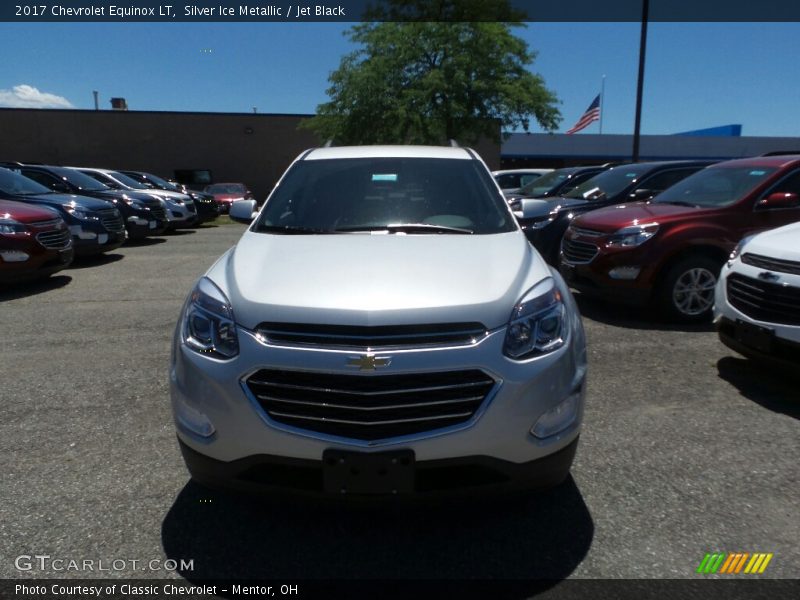
[[[495,381],[478,370],[349,375],[262,369],[246,383],[278,423],[374,441],[465,423]]]

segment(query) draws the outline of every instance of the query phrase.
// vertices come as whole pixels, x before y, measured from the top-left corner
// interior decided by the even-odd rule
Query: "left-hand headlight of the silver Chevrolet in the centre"
[[[182,339],[192,350],[219,358],[239,354],[231,303],[207,277],[189,295],[182,316]]]

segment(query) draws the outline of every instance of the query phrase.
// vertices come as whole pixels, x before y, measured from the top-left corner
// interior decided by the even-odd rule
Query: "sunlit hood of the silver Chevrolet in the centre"
[[[519,232],[271,235],[247,232],[208,272],[236,321],[331,325],[505,325],[550,276]]]

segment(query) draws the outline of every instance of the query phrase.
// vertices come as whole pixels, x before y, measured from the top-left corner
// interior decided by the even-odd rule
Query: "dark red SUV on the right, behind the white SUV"
[[[672,319],[711,317],[720,269],[743,237],[800,221],[800,155],[731,160],[648,202],[576,218],[561,244],[570,285]]]

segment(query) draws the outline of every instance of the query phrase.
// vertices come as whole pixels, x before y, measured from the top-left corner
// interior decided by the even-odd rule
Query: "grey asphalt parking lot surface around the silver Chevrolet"
[[[772,552],[763,577],[800,577],[798,382],[710,326],[584,300],[584,433],[572,479],[551,492],[342,509],[191,483],[170,340],[192,283],[241,231],[150,240],[0,291],[0,577],[697,578],[714,551]],[[193,569],[20,571],[20,555]]]

